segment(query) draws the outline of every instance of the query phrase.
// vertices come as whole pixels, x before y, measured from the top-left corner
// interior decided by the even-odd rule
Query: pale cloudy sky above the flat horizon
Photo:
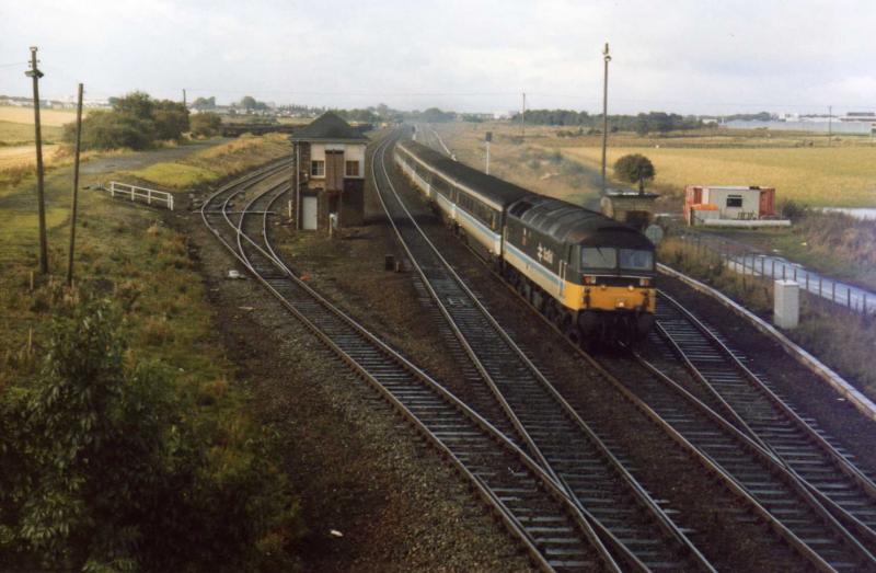
[[[0,0],[0,94],[459,112],[876,111],[874,0]]]

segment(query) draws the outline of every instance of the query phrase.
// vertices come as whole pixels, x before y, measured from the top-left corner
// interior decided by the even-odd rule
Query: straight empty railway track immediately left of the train
[[[637,568],[712,571],[418,227],[389,176],[387,149],[393,142],[388,138],[372,156],[378,196],[424,287],[514,425],[518,443],[576,502],[606,546],[624,548]]]

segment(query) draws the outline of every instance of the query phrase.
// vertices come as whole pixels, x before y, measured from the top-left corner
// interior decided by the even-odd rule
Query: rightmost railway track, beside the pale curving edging
[[[853,456],[815,420],[800,415],[763,374],[671,297],[661,295],[654,365],[670,371],[680,358],[714,409],[805,484],[812,495],[876,549],[876,485]]]

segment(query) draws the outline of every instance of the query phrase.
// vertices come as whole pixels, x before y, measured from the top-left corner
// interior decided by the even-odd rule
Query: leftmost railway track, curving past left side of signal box
[[[283,263],[268,221],[286,185],[243,198],[268,176],[266,171],[229,184],[201,207],[205,225],[231,254],[450,460],[540,569],[620,571],[619,561],[635,569],[622,549],[604,547],[565,491],[525,451]],[[237,202],[246,202],[240,213]]]

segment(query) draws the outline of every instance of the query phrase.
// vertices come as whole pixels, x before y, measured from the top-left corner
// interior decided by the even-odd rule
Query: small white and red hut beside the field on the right
[[[684,219],[691,226],[787,226],[775,219],[775,188],[740,185],[688,185]]]

